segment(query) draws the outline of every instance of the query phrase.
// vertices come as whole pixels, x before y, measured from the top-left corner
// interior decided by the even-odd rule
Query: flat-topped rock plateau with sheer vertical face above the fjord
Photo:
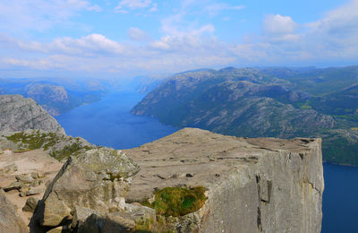
[[[244,139],[185,128],[125,150],[141,171],[127,200],[167,186],[204,186],[208,200],[169,229],[320,232],[324,188],[320,139]],[[195,227],[193,228],[192,225]]]

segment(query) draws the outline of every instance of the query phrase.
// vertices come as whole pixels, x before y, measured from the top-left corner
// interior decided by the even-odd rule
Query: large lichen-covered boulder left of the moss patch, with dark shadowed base
[[[113,149],[71,157],[47,187],[32,222],[43,227],[71,223],[76,206],[99,214],[121,211],[130,177],[138,171],[136,163]]]

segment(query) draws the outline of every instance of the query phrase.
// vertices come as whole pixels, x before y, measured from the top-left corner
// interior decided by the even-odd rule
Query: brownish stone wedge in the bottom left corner
[[[0,190],[0,232],[26,233],[28,228],[16,214],[16,209],[7,198],[3,190]]]

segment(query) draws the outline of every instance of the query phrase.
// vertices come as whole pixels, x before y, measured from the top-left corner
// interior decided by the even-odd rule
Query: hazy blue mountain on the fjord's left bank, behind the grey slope
[[[0,79],[0,94],[20,94],[35,99],[51,116],[98,101],[110,88],[113,86],[99,80]]]

